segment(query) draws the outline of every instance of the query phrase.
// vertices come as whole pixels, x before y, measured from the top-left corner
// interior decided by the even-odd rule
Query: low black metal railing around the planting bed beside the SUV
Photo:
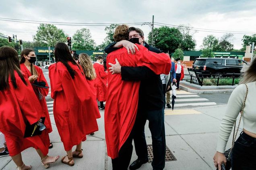
[[[194,83],[200,86],[203,85],[236,85],[239,83],[240,73],[223,73],[223,74],[202,74],[193,69],[188,69],[189,74],[185,76],[190,79],[184,79],[187,82]]]

